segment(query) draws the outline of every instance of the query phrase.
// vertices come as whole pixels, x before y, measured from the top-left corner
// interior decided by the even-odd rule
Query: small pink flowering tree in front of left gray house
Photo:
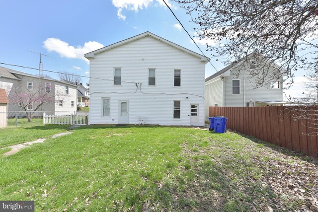
[[[9,100],[13,105],[17,105],[25,111],[28,121],[31,122],[34,113],[43,105],[55,104],[63,99],[64,93],[51,89],[42,80],[32,84],[32,89],[28,89],[24,81],[12,87]],[[37,85],[36,85],[37,84]]]

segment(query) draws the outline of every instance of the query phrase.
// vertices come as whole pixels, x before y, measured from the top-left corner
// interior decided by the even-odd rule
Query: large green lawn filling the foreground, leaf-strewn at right
[[[65,130],[43,127],[48,129],[42,133]],[[39,128],[12,134],[24,137]],[[318,179],[315,162],[232,132],[85,126],[1,157],[0,200],[34,200],[36,211],[265,211],[268,206],[293,211],[317,197],[317,181],[305,180],[299,185],[306,198],[291,197],[303,176]],[[299,164],[306,169],[296,170]],[[293,188],[277,191],[277,184],[290,180]]]

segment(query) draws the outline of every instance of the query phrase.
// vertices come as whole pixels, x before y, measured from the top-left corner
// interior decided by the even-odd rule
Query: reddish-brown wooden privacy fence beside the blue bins
[[[305,106],[209,107],[209,117],[228,117],[229,129],[318,157],[317,110]]]

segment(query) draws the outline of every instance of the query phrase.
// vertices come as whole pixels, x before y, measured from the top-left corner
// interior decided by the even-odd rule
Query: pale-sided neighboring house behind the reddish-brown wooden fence
[[[237,61],[221,71],[205,79],[205,114],[209,115],[209,106],[247,107],[250,100],[253,106],[277,105],[283,101],[282,79],[266,80],[259,88],[256,78],[250,76],[250,71],[264,66],[264,61],[249,59]],[[279,68],[268,66],[269,74],[275,74]]]

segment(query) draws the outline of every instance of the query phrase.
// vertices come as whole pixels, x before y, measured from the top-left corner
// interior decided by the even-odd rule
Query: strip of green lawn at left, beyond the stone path
[[[66,132],[68,127],[69,125],[39,125],[34,127],[0,129],[0,148],[17,143],[49,138],[54,134]]]

